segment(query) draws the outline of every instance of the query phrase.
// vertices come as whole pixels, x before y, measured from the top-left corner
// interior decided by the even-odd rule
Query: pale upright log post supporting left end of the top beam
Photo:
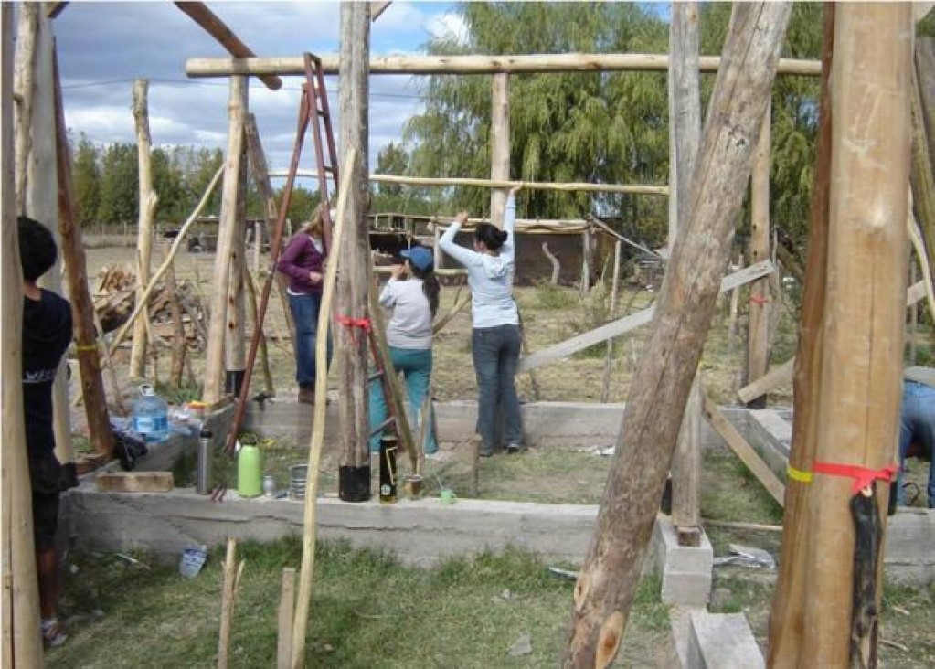
[[[208,328],[208,349],[205,352],[205,390],[202,397],[209,405],[223,398],[223,364],[227,337],[228,284],[230,260],[234,251],[237,230],[237,197],[240,190],[240,157],[243,148],[243,114],[246,111],[246,81],[232,77],[228,96],[227,155],[224,159],[224,183],[221,194],[222,217],[218,221],[218,248],[214,257],[214,278],[211,285],[211,320]]]

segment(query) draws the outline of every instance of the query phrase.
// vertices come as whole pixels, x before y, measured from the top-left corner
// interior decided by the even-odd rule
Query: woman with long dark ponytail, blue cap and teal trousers
[[[386,344],[396,373],[406,379],[410,415],[417,424],[431,420],[432,411],[421,415],[432,377],[432,321],[439,311],[439,279],[435,276],[432,251],[424,247],[403,250],[402,264],[393,266],[390,280],[380,293],[380,304],[392,309],[386,324]],[[386,420],[386,398],[379,380],[370,384],[370,429]],[[424,430],[425,455],[439,450],[431,424]],[[381,434],[370,437],[370,450],[380,452]]]

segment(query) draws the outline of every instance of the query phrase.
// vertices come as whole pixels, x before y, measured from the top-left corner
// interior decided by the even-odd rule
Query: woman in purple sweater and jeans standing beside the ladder
[[[322,307],[324,263],[328,249],[324,245],[324,203],[315,207],[311,221],[289,240],[276,268],[289,278],[289,308],[295,320],[295,380],[298,401],[315,403],[315,338],[318,314]],[[328,337],[328,363],[331,362],[331,337]]]

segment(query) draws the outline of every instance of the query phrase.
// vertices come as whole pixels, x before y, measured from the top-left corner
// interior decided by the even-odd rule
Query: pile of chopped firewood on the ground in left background
[[[94,282],[93,298],[94,311],[104,332],[112,332],[121,327],[133,313],[137,300],[137,275],[131,265],[101,268]],[[178,293],[175,295],[165,287],[165,283],[156,285],[149,304],[152,335],[165,342],[172,342],[175,323],[171,305],[176,299],[181,308],[186,345],[192,349],[204,349],[207,343],[208,315],[190,281],[179,281]]]

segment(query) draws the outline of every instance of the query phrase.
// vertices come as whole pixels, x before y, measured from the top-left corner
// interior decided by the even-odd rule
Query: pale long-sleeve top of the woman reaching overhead
[[[439,239],[439,246],[468,270],[468,286],[471,292],[471,313],[475,328],[492,328],[497,325],[519,325],[519,312],[513,301],[513,271],[516,247],[513,228],[516,225],[516,201],[511,194],[503,217],[503,230],[507,240],[500,247],[499,255],[478,253],[454,243],[454,235],[461,224],[453,222]]]

